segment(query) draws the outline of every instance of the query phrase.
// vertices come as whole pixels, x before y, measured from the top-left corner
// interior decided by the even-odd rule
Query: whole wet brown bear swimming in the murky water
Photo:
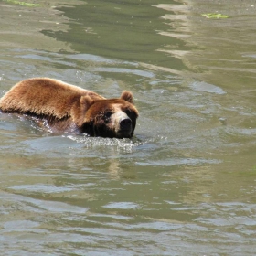
[[[18,82],[0,100],[0,110],[36,117],[53,133],[110,138],[131,138],[138,117],[130,91],[123,91],[118,99],[105,99],[93,91],[48,78]]]

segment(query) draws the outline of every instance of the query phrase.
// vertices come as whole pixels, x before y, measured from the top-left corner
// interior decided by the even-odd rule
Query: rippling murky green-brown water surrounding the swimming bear
[[[46,76],[140,112],[131,140],[1,115],[1,254],[255,255],[255,8],[0,2],[1,96]]]

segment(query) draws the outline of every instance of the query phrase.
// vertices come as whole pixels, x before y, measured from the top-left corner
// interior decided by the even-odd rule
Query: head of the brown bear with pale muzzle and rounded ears
[[[80,97],[79,108],[71,112],[80,133],[109,138],[131,138],[138,111],[133,105],[133,94],[123,91],[119,99],[94,100]]]

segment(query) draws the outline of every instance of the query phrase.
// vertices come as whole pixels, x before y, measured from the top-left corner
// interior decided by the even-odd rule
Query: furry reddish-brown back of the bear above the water
[[[60,80],[35,78],[18,82],[0,100],[4,112],[18,112],[63,119],[71,115],[72,105],[81,96],[92,100],[105,99],[101,95]]]

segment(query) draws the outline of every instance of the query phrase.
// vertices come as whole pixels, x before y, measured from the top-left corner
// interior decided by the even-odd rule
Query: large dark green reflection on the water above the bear
[[[155,4],[153,0],[145,3],[94,0],[77,8],[64,6],[60,11],[70,20],[78,22],[69,23],[67,31],[44,29],[42,33],[58,41],[69,41],[71,48],[78,52],[97,53],[101,57],[123,61],[135,60],[175,70],[187,69],[181,59],[172,61],[158,52],[159,46],[165,44],[176,44],[183,48],[187,48],[187,45],[174,37],[166,40],[155,33],[169,27],[159,20],[163,11],[155,8]]]

